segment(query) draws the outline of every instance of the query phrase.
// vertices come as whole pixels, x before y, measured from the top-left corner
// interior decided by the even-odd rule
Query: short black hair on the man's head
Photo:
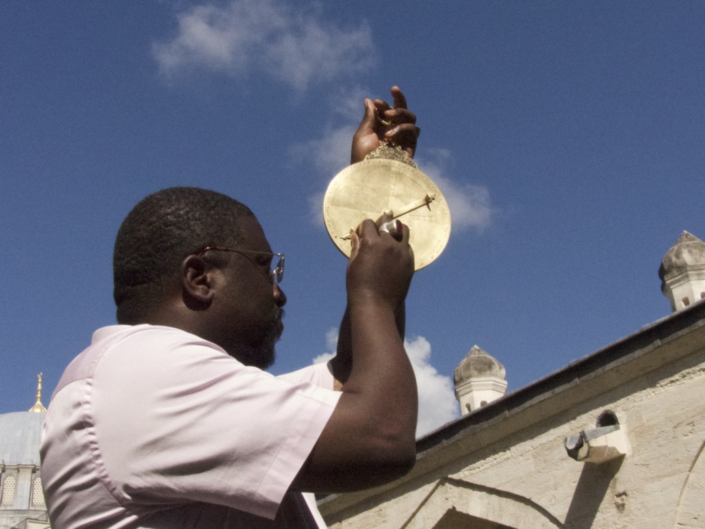
[[[115,240],[118,321],[123,301],[153,297],[188,255],[206,246],[238,245],[243,238],[239,219],[254,216],[238,200],[201,188],[167,188],[140,200]]]

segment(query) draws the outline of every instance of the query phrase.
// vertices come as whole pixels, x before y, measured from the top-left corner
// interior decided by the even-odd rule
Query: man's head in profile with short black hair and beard
[[[209,246],[250,253],[200,254]],[[149,195],[125,218],[115,242],[118,322],[178,327],[243,363],[266,367],[286,303],[262,274],[271,262],[267,252],[255,215],[231,197],[200,188]]]

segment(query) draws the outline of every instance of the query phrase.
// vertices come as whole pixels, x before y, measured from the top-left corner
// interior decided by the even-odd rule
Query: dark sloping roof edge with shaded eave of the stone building
[[[699,300],[419,437],[416,442],[417,463],[410,473],[373,489],[329,494],[319,500],[321,513],[324,516],[342,516],[341,513],[355,504],[376,504],[390,490],[403,487],[405,483],[424,475],[436,475],[438,468],[454,461],[459,454],[482,449],[502,437],[530,427],[539,418],[545,419],[584,399],[593,398],[606,390],[604,386],[591,384],[600,375],[613,375],[606,377],[608,389],[613,389],[626,380],[672,363],[675,358],[685,358],[703,351],[704,343],[705,300]],[[650,354],[654,352],[656,354]],[[560,398],[552,398],[559,394]],[[439,453],[442,454],[440,457],[434,457]]]

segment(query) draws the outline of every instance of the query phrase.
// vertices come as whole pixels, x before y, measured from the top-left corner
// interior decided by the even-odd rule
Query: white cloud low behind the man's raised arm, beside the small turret
[[[329,353],[323,353],[313,359],[313,363],[327,362],[335,356],[338,343],[338,329],[326,333],[326,348]],[[431,344],[423,336],[417,336],[409,341],[404,340],[409,360],[414,368],[416,384],[419,390],[419,420],[416,427],[416,437],[446,424],[460,416],[458,401],[455,400],[453,380],[440,375],[431,365]]]

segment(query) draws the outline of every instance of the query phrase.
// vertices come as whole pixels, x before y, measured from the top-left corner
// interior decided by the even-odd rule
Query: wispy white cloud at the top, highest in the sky
[[[205,68],[235,78],[262,71],[302,92],[374,63],[372,32],[342,28],[321,13],[281,0],[231,0],[179,13],[178,34],[153,44],[164,75]]]

